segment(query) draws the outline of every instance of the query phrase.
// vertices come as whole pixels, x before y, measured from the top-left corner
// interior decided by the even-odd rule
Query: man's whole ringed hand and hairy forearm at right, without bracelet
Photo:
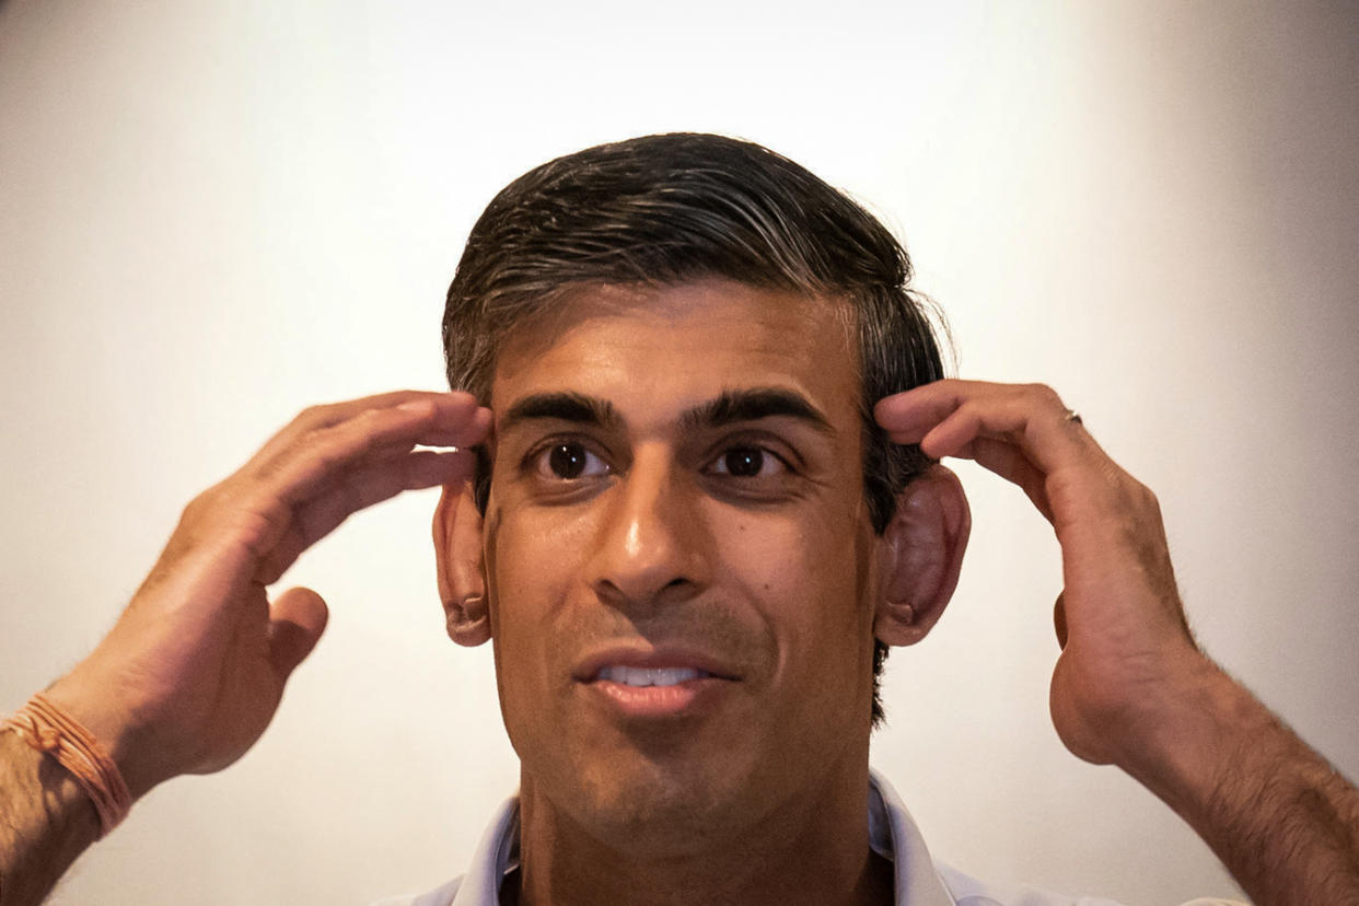
[[[942,380],[881,401],[931,456],[1018,485],[1061,543],[1053,727],[1212,848],[1254,903],[1359,903],[1359,791],[1197,647],[1155,494],[1041,384]]]

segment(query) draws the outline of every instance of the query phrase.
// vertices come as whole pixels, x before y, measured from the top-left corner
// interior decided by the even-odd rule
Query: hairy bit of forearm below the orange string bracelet
[[[0,906],[46,896],[99,835],[99,816],[67,769],[0,733]]]

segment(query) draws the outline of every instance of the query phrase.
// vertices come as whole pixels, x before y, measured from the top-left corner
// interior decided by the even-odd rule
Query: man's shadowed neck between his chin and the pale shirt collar
[[[636,903],[893,902],[892,863],[868,849],[867,757],[828,772],[756,820],[720,816],[703,833],[667,827],[591,833],[544,795],[520,784],[520,871],[503,902],[525,906]],[[656,822],[663,825],[665,822]],[[715,830],[716,829],[716,830]],[[652,833],[655,830],[655,833]],[[518,884],[514,884],[514,882]]]

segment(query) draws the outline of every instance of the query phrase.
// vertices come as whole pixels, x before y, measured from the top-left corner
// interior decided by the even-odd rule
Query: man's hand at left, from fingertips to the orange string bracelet
[[[491,412],[465,393],[307,409],[185,508],[117,625],[48,697],[105,744],[133,797],[226,767],[268,727],[326,623],[317,592],[270,603],[265,588],[349,513],[469,478],[466,448],[489,429]]]

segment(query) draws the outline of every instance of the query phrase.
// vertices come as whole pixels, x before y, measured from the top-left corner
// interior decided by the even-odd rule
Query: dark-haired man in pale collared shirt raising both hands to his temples
[[[265,588],[351,512],[442,485],[448,634],[495,645],[522,784],[462,880],[400,902],[1068,902],[936,868],[868,770],[886,647],[957,581],[969,513],[938,460],[965,456],[1061,543],[1068,748],[1161,796],[1256,902],[1359,902],[1359,795],[1199,652],[1155,499],[1053,391],[943,380],[909,277],[875,220],[757,145],[545,164],[469,239],[455,391],[299,416],[189,504],[46,700],[130,797],[224,767],[325,626],[315,592]],[[4,906],[95,838],[107,786],[33,721],[0,733]]]

